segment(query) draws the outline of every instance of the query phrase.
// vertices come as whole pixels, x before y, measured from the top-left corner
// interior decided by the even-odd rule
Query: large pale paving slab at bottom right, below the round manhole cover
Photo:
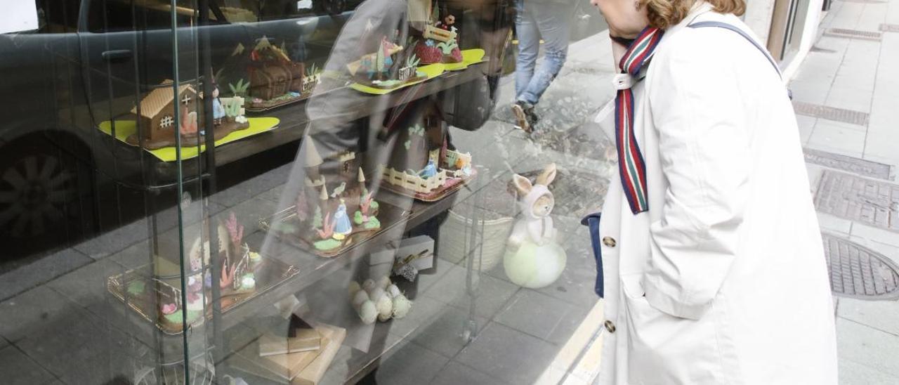
[[[877,372],[899,376],[899,336],[837,318],[837,352],[840,359],[865,363]]]

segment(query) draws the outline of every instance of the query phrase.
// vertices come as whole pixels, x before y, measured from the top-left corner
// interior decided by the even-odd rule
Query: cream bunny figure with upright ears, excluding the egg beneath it
[[[512,183],[519,194],[518,204],[522,216],[509,236],[511,246],[521,246],[525,240],[543,246],[556,239],[556,228],[553,227],[553,219],[549,217],[556,201],[548,189],[555,178],[555,164],[550,164],[543,170],[537,177],[537,184],[530,184],[530,180],[521,175],[512,176]]]

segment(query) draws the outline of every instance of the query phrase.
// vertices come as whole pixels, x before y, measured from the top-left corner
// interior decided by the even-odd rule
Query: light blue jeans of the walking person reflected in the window
[[[515,63],[515,98],[537,104],[553,82],[568,55],[568,39],[574,2],[552,0],[518,0],[515,31],[518,35],[518,59]],[[546,56],[537,66],[540,38]]]

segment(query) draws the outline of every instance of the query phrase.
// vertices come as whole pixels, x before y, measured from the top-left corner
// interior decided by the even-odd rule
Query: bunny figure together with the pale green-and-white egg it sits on
[[[527,288],[545,287],[565,270],[565,249],[556,242],[556,228],[549,217],[555,200],[549,184],[556,178],[556,165],[550,164],[537,177],[537,183],[521,175],[513,175],[512,183],[519,197],[521,219],[512,234],[503,257],[506,275],[512,282]]]

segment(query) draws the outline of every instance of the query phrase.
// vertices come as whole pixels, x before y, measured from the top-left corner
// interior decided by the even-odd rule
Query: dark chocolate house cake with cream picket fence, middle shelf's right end
[[[381,166],[384,187],[420,201],[438,201],[476,175],[471,155],[450,148],[446,122],[429,105],[397,133],[396,149]]]

